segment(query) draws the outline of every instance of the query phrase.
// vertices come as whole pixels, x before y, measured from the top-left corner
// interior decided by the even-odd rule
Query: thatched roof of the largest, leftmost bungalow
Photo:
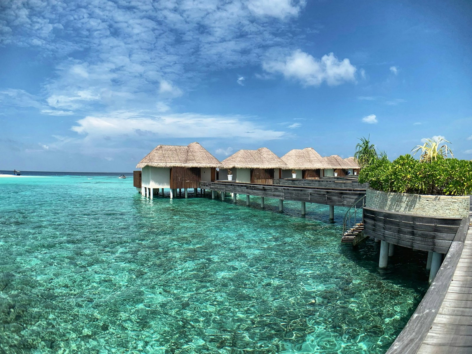
[[[210,152],[199,143],[188,146],[158,145],[136,165],[137,169],[151,167],[222,167]]]

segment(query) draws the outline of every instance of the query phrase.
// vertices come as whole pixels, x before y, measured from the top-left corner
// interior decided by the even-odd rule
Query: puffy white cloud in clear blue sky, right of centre
[[[262,68],[269,73],[281,73],[286,78],[298,80],[304,86],[319,86],[323,81],[330,86],[355,82],[356,68],[349,59],[339,61],[333,53],[316,59],[298,49],[291,55],[263,61]]]

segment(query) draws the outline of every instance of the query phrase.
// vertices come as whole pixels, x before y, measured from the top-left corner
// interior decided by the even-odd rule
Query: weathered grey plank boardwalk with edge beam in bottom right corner
[[[436,278],[387,354],[472,353],[470,221],[463,219]]]

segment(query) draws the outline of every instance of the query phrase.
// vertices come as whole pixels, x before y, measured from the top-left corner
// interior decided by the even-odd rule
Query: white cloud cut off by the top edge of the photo
[[[247,7],[258,16],[270,16],[284,19],[290,16],[298,16],[305,6],[304,0],[250,0],[245,1]]]

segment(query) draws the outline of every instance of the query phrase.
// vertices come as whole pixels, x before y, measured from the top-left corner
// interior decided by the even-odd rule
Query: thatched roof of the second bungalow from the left
[[[239,150],[221,163],[225,169],[288,169],[286,163],[268,148]]]

